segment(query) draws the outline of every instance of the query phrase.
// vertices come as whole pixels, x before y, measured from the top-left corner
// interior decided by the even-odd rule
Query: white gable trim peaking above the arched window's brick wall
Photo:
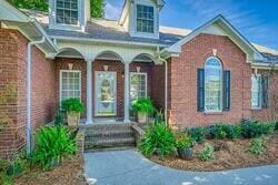
[[[249,60],[256,60],[256,61],[264,61],[266,60],[264,55],[242,35],[237,31],[230,23],[227,21],[221,14],[217,16],[216,18],[211,19],[207,23],[202,24],[198,29],[193,30],[191,33],[187,34],[183,39],[178,41],[177,43],[172,44],[169,48],[166,48],[163,51],[169,53],[180,53],[181,47],[203,32],[207,28],[209,28],[211,24],[217,23],[219,27],[221,27],[226,32],[229,32],[229,37],[231,40],[237,40],[236,44],[238,44],[241,50],[244,50],[247,54],[252,53],[252,55],[249,54]]]

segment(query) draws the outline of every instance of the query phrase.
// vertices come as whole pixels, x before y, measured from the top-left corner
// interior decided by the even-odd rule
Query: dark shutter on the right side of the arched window
[[[230,71],[224,71],[224,111],[230,111]]]

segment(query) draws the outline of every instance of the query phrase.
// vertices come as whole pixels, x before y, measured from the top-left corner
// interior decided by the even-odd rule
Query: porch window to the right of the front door
[[[147,97],[147,73],[130,73],[130,103]]]

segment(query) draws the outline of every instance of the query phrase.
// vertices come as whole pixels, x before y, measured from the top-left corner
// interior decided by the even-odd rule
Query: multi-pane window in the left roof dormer
[[[78,0],[57,0],[57,23],[78,24]]]

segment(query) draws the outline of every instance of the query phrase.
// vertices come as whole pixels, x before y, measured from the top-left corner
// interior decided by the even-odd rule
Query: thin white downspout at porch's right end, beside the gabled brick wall
[[[168,62],[160,56],[159,47],[157,47],[158,60],[165,63],[165,122],[168,124]]]

